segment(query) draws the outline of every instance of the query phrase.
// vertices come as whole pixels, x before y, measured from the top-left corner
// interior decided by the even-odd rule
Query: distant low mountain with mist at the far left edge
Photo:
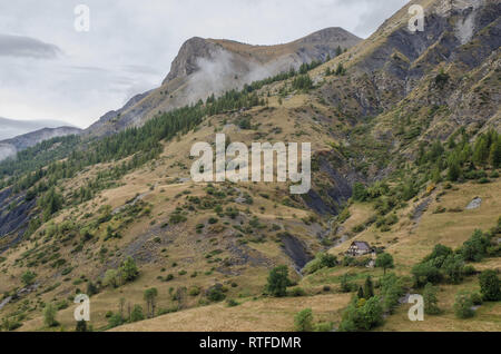
[[[79,135],[81,131],[81,129],[73,127],[43,128],[2,140],[0,141],[0,161],[8,157],[13,157],[18,151],[36,146],[43,140],[68,135]]]

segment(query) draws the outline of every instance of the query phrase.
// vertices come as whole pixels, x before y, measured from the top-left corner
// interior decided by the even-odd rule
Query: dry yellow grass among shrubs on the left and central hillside
[[[274,102],[272,100],[271,106],[275,109],[272,111],[262,110],[256,108],[253,110],[253,122],[259,124],[263,131],[272,131],[274,128],[281,128],[279,132],[274,134],[273,139],[285,141],[297,141],[301,138],[296,137],[297,127],[295,126],[294,115],[292,110],[303,107],[307,102],[307,96],[297,96],[291,99],[284,100],[283,105]],[[222,248],[223,253],[218,257],[225,259],[232,257],[232,254],[225,248],[228,246],[227,239],[230,239],[228,234],[232,230],[229,225],[226,226],[226,230],[209,235],[207,238],[200,238],[195,234],[195,226],[198,223],[207,222],[209,216],[214,215],[213,210],[199,212],[195,217],[190,217],[186,224],[181,224],[174,229],[167,232],[155,232],[149,236],[147,235],[151,229],[151,223],[158,227],[166,220],[174,209],[183,205],[185,196],[177,198],[183,191],[189,190],[190,196],[205,196],[204,188],[206,184],[193,184],[174,183],[178,178],[188,178],[189,170],[183,166],[189,167],[191,160],[188,158],[186,151],[190,150],[190,147],[196,141],[213,141],[215,138],[215,128],[222,129],[220,132],[226,132],[232,137],[232,141],[244,141],[249,144],[255,140],[254,130],[240,130],[235,126],[224,126],[223,119],[225,117],[212,117],[208,121],[202,125],[197,131],[190,131],[183,139],[173,139],[165,142],[165,150],[161,156],[147,164],[144,167],[126,175],[121,180],[118,180],[118,187],[104,190],[99,193],[90,201],[85,203],[81,206],[69,208],[59,215],[55,222],[56,224],[62,223],[67,218],[84,222],[82,215],[85,213],[91,213],[97,216],[98,209],[102,205],[111,206],[111,209],[124,206],[128,200],[131,200],[137,195],[143,195],[143,200],[150,205],[151,213],[149,217],[141,217],[134,220],[134,224],[129,225],[121,232],[121,239],[110,239],[104,242],[106,233],[106,224],[99,228],[97,234],[98,242],[95,244],[88,244],[86,246],[86,253],[71,254],[71,249],[75,245],[59,245],[59,253],[62,258],[68,259],[71,265],[77,266],[68,276],[61,276],[57,271],[49,266],[41,266],[36,269],[37,281],[41,286],[38,291],[38,295],[30,294],[26,297],[32,306],[37,303],[56,302],[67,299],[69,308],[62,309],[58,313],[58,321],[67,331],[71,331],[75,326],[73,309],[75,305],[68,299],[75,294],[76,288],[82,291],[86,289],[86,283],[73,285],[81,275],[86,275],[89,279],[96,282],[102,277],[106,271],[106,263],[97,259],[98,254],[102,246],[109,249],[109,253],[117,253],[125,249],[129,244],[136,242],[138,238],[144,238],[143,243],[147,247],[146,249],[153,252],[155,259],[148,264],[141,264],[141,276],[138,281],[125,285],[119,289],[106,288],[100,294],[91,298],[91,318],[95,328],[99,330],[107,325],[108,319],[105,314],[109,311],[116,312],[118,309],[118,303],[120,297],[125,297],[127,303],[144,305],[143,294],[146,288],[157,287],[159,291],[158,306],[161,308],[171,308],[177,305],[171,301],[169,295],[169,288],[178,288],[186,286],[188,289],[193,286],[198,286],[202,289],[207,289],[215,283],[225,284],[229,292],[228,298],[248,298],[256,294],[261,294],[264,283],[266,281],[267,272],[271,266],[277,264],[289,264],[291,259],[284,255],[281,250],[279,244],[274,239],[268,238],[265,244],[248,244],[248,252],[255,257],[262,257],[266,260],[261,266],[243,264],[242,266],[232,267],[230,272],[220,273],[212,269],[218,267],[217,264],[209,264],[205,258],[205,255],[216,248]],[[228,121],[229,124],[230,121]],[[301,125],[301,129],[304,129],[304,134],[313,140],[314,149],[323,149],[326,147],[326,142],[330,139],[325,139],[325,135],[321,131],[316,131],[311,128],[310,125]],[[268,138],[266,138],[267,140]],[[80,174],[71,180],[67,180],[63,185],[66,190],[71,190],[73,187],[86,184],[88,180],[95,178],[99,170],[109,168],[109,165],[99,165],[89,168],[86,173]],[[286,195],[284,191],[286,185],[278,184],[242,184],[239,189],[248,191],[253,195],[254,205],[236,205],[238,209],[248,212],[259,217],[262,223],[269,226],[272,224],[279,224],[284,228],[287,228],[291,233],[294,233],[308,245],[312,252],[316,252],[318,243],[315,238],[308,236],[312,234],[305,228],[304,223],[301,220],[303,217],[307,217],[310,213],[304,209],[292,208],[277,203],[281,200],[282,195]],[[266,199],[259,196],[259,194],[268,194],[271,199]],[[247,213],[247,212],[245,212]],[[266,233],[265,233],[266,234]],[[145,237],[146,236],[146,237]],[[155,246],[154,239],[160,237],[163,244]],[[229,238],[228,238],[229,237]],[[171,240],[171,242],[170,242]],[[167,244],[164,244],[167,243]],[[153,247],[154,245],[155,247]],[[7,292],[14,287],[21,286],[20,276],[26,271],[24,267],[14,266],[14,260],[22,257],[22,254],[36,246],[35,243],[23,243],[19,247],[12,248],[3,256],[7,257],[6,263],[0,265],[6,273],[0,273],[0,291]],[[167,248],[166,253],[160,253],[161,248]],[[108,259],[105,259],[108,260]],[[177,266],[174,267],[173,264]],[[165,269],[165,271],[163,271]],[[186,272],[186,275],[178,275],[180,271]],[[229,269],[228,269],[229,271]],[[197,272],[196,277],[190,277],[191,274]],[[224,271],[226,272],[226,271]],[[293,272],[292,276],[294,277]],[[158,279],[158,276],[167,276],[174,274],[175,279],[168,283],[164,283]],[[236,288],[229,286],[230,283],[238,283]],[[51,285],[60,283],[60,285],[52,289],[47,291]],[[197,306],[198,301],[203,297],[188,297],[186,301],[186,307]],[[6,306],[1,311],[1,315],[9,315],[17,308],[17,304],[12,303]],[[37,306],[37,309],[29,312],[27,319],[23,321],[23,326],[20,331],[40,331],[43,330],[41,308]]]

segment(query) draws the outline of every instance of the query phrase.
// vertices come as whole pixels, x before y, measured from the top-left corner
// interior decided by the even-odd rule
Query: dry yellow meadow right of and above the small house
[[[440,187],[441,188],[441,187]],[[416,203],[399,212],[400,222],[392,226],[392,230],[382,233],[375,226],[356,235],[353,239],[333,248],[330,253],[340,254],[347,250],[350,244],[356,240],[365,240],[372,245],[385,246],[395,258],[399,268],[409,271],[414,264],[425,257],[436,244],[456,248],[470,238],[475,229],[489,230],[501,216],[501,180],[498,178],[492,184],[479,185],[465,183],[454,189],[443,190],[445,194],[436,201],[442,189],[435,190],[431,196],[431,204],[416,224],[410,220],[409,215],[420,203],[428,197],[422,196]],[[474,210],[466,210],[468,204],[475,197],[482,198],[482,205]],[[446,213],[434,214],[439,207],[445,207]],[[452,212],[461,209],[461,212]],[[365,222],[373,215],[370,204],[354,204],[350,212],[353,215],[346,220],[345,228]]]

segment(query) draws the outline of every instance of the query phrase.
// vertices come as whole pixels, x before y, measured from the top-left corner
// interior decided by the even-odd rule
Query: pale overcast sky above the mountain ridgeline
[[[0,117],[87,127],[160,85],[190,37],[284,43],[326,27],[369,37],[407,0],[0,2]],[[75,8],[90,31],[75,30]]]

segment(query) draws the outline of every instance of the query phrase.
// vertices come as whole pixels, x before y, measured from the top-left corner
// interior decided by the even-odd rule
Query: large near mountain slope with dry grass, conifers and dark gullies
[[[1,215],[12,220],[28,214],[30,222],[26,233],[0,238],[7,248],[0,316],[22,324],[21,331],[42,330],[41,311],[52,303],[58,321],[72,330],[70,302],[91,292],[92,325],[105,331],[132,319],[120,314],[121,297],[132,308],[155,287],[161,316],[124,331],[229,331],[238,319],[245,330],[248,318],[257,330],[285,331],[303,307],[314,308],[315,322],[331,330],[366,276],[375,284],[384,279],[371,256],[345,257],[352,240],[392,255],[403,297],[422,293],[413,267],[436,245],[462,255],[460,247],[479,228],[488,244],[483,258],[449,259],[459,284],[438,271],[444,312],[426,318],[432,327],[406,321],[407,308],[396,298],[394,308],[384,303],[380,330],[499,331],[499,302],[483,304],[470,319],[455,318],[453,302],[459,291],[479,292],[478,271],[501,267],[501,6],[416,2],[426,8],[430,32],[406,30],[407,6],[374,36],[306,73],[174,110],[78,146],[46,169],[11,174]],[[472,24],[466,37],[456,27],[465,21]],[[168,85],[196,75],[174,71]],[[289,183],[191,181],[191,146],[212,144],[222,132],[245,146],[311,141],[312,190],[295,196]],[[336,258],[324,266],[321,253]],[[137,278],[118,276],[128,257]],[[465,264],[475,271],[466,274]],[[297,284],[285,298],[263,294],[277,265],[286,265]],[[21,284],[28,271],[36,273],[32,284]],[[386,299],[382,291],[375,289]]]

